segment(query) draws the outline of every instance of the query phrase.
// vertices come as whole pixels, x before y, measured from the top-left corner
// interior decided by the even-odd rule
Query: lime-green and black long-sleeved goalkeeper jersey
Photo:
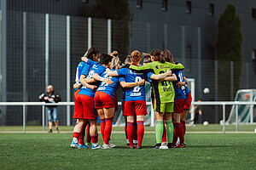
[[[168,69],[172,71],[181,71],[184,69],[182,64],[174,65],[169,62],[161,63],[160,61],[154,61],[152,63],[148,63],[147,65],[143,66],[136,66],[131,65],[132,71],[138,72],[153,72],[154,74],[158,75],[161,73],[165,73]],[[156,104],[160,103],[170,103],[174,102],[175,92],[172,86],[172,82],[163,81],[157,82],[152,80],[152,87],[154,89],[154,99],[156,99]]]

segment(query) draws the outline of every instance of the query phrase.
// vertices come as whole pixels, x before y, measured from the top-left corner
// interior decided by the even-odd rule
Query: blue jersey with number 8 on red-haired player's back
[[[125,82],[139,82],[146,78],[144,73],[137,73],[127,68],[122,68],[117,72],[119,76],[125,76]],[[146,100],[144,84],[133,88],[125,88],[125,101],[136,100]]]

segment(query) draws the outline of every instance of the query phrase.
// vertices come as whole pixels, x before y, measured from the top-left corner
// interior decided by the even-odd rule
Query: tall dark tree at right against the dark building
[[[242,54],[241,54],[241,18],[236,14],[236,6],[228,4],[218,19],[218,93],[220,100],[230,100],[230,61],[233,61],[234,91],[240,89]],[[235,96],[235,95],[234,95]]]

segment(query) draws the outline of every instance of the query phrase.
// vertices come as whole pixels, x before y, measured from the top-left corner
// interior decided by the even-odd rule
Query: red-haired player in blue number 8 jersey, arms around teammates
[[[131,65],[138,65],[141,60],[141,54],[135,50],[131,53]],[[136,73],[128,68],[120,69],[119,71],[109,71],[107,74],[110,77],[125,76],[125,82],[140,82],[145,79],[144,73]],[[172,71],[160,75],[154,75],[152,72],[148,72],[147,76],[152,79],[163,79],[166,76],[170,76]],[[143,135],[144,135],[144,117],[147,115],[146,101],[145,101],[145,88],[143,85],[138,85],[134,88],[125,89],[125,113],[127,116],[127,135],[130,142],[130,148],[133,149],[133,122],[134,117],[137,116],[137,148],[142,148]]]

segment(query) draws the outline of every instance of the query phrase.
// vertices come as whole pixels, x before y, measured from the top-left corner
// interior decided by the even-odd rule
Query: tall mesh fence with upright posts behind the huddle
[[[2,40],[2,20],[0,24]],[[255,64],[214,60],[214,48],[209,48],[200,27],[13,11],[7,12],[6,24],[6,55],[1,53],[2,101],[38,101],[48,84],[61,94],[62,101],[73,101],[76,66],[90,45],[101,53],[117,50],[122,61],[134,49],[150,53],[153,48],[168,48],[185,66],[185,77],[195,79],[195,100],[234,100],[236,90],[256,85]],[[210,93],[204,94],[204,88]],[[120,99],[121,90],[118,92]],[[2,125],[21,125],[21,107],[1,109]],[[42,123],[41,110],[27,107],[26,122]],[[200,122],[218,123],[221,119],[218,106],[203,106],[202,111]],[[59,113],[61,125],[75,122],[73,106],[70,110],[61,106]]]

